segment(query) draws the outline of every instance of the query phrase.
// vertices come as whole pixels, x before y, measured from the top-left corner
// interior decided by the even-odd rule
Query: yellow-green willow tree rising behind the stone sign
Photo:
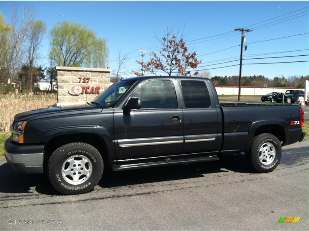
[[[56,66],[104,68],[108,48],[87,26],[58,22],[49,33],[49,55]]]

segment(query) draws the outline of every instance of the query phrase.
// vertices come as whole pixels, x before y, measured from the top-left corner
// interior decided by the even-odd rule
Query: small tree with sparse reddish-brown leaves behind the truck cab
[[[156,71],[163,71],[169,76],[173,73],[191,76],[191,71],[188,71],[188,68],[197,68],[201,60],[195,57],[197,55],[195,51],[188,52],[188,47],[186,46],[183,36],[177,39],[176,35],[172,33],[171,30],[168,30],[162,40],[158,40],[162,45],[160,55],[151,51],[150,56],[152,58],[149,62],[143,63],[137,61],[137,63],[142,65],[143,70],[154,74],[156,74]],[[162,59],[159,56],[162,56]],[[138,71],[133,73],[135,75],[141,75]],[[195,71],[193,75],[198,75],[198,71]]]

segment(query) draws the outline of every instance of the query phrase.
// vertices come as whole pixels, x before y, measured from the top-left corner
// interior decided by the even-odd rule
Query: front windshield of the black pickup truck
[[[113,107],[122,95],[135,83],[135,80],[122,80],[108,87],[91,103],[96,106]]]

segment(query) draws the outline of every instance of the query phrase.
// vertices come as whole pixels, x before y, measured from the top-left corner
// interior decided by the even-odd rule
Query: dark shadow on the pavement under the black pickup
[[[223,168],[223,169],[222,169]],[[219,161],[194,164],[178,164],[164,167],[143,168],[123,172],[106,171],[99,182],[102,188],[120,187],[134,184],[155,183],[169,180],[207,177],[204,174],[216,172],[252,173],[245,165],[244,155],[240,153],[224,154]],[[24,174],[14,171],[10,164],[0,166],[1,193],[33,193],[60,195],[49,183],[46,173]]]

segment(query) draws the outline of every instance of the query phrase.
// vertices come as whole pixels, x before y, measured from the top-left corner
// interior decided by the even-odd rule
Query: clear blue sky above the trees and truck
[[[36,20],[47,24],[38,62],[43,66],[49,66],[49,31],[67,20],[87,25],[107,39],[111,69],[117,67],[119,51],[128,53],[121,70],[127,73],[124,77],[141,69],[136,63],[142,54],[138,50],[148,51],[145,61],[150,51],[159,53],[155,37],[162,38],[167,28],[184,34],[189,51],[196,51],[202,60],[197,70],[207,69],[211,76],[239,75],[239,61],[234,60],[239,60],[241,32],[235,28],[252,29],[246,33],[242,76],[273,79],[309,74],[309,1],[1,1],[6,22],[13,4],[19,10],[33,6]],[[295,57],[272,58],[283,56]],[[236,66],[226,67],[231,65]]]

